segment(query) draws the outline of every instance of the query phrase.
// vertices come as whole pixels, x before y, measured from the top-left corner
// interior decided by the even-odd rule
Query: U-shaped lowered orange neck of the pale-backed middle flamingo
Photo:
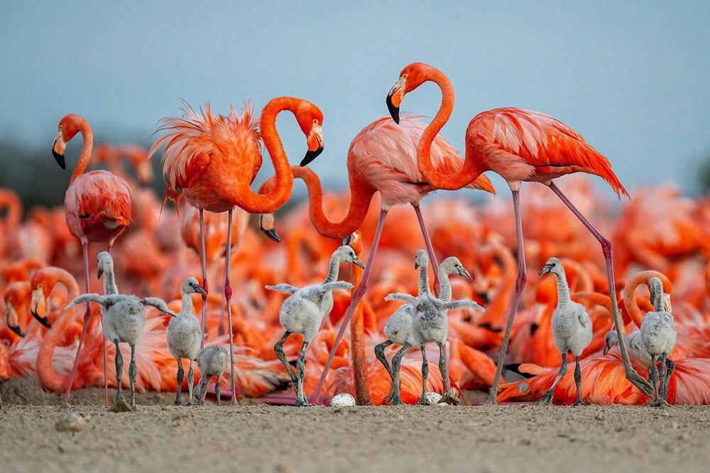
[[[308,189],[308,213],[310,221],[320,235],[326,238],[342,239],[358,230],[365,220],[370,201],[376,190],[361,182],[355,174],[350,174],[350,206],[347,215],[339,222],[329,221],[323,211],[323,189],[320,179],[309,167],[292,166],[293,177],[302,179]],[[273,188],[273,179],[264,182],[259,192]]]

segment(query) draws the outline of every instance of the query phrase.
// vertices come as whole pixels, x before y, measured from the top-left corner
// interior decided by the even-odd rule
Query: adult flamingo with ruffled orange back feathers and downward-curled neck
[[[209,102],[198,114],[182,101],[185,108],[182,118],[163,118],[156,131],[168,131],[153,143],[148,157],[167,143],[163,152],[163,174],[168,178],[166,196],[177,199],[185,196],[187,202],[200,211],[200,246],[202,262],[202,346],[204,346],[205,309],[207,307],[207,263],[204,251],[204,211],[229,212],[227,242],[231,242],[234,207],[250,213],[271,213],[288,201],[293,188],[293,173],[283,145],[276,132],[276,116],[281,111],[294,114],[298,125],[307,137],[308,151],[301,164],[307,165],[323,150],[323,114],[309,101],[294,97],[278,97],[261,111],[260,133],[256,119],[245,104],[244,113],[237,115],[231,107],[229,116],[214,116]],[[265,195],[255,194],[249,185],[261,167],[259,140],[271,156],[275,169],[275,188]],[[229,323],[229,353],[231,369],[231,404],[236,405],[234,389],[234,336],[231,325],[231,286],[229,285],[229,259],[231,245],[226,245],[224,257],[224,296]],[[202,348],[202,347],[201,347]]]

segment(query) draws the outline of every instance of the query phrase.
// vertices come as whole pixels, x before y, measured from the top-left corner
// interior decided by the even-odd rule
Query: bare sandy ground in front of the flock
[[[138,397],[140,411],[61,406],[32,381],[1,386],[3,472],[706,472],[710,408],[688,406],[175,408],[174,394]],[[33,391],[22,399],[18,392]],[[469,395],[469,398],[473,397]],[[102,391],[74,394],[99,403]],[[28,401],[44,406],[26,406]],[[143,404],[143,405],[141,405]],[[80,432],[55,430],[75,412]]]

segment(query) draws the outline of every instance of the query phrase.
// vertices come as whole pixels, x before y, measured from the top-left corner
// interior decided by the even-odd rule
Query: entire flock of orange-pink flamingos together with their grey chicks
[[[428,124],[399,111],[427,81],[442,91]],[[93,146],[84,118],[62,118],[62,169],[66,143],[83,140],[63,209],[23,217],[0,189],[0,380],[35,377],[65,401],[103,387],[107,405],[118,388],[116,410],[135,408],[136,390],[180,404],[184,389],[187,404],[458,404],[476,389],[486,404],[709,403],[710,197],[661,186],[627,199],[581,135],[518,108],[476,115],[461,157],[438,134],[452,84],[422,63],[352,140],[341,194],[307,167],[324,148],[315,104],[279,97],[258,118],[249,104],[228,116],[184,105],[151,150]],[[282,111],[306,138],[300,166],[278,137]],[[275,176],[254,191],[263,148]],[[162,203],[147,185],[160,150]],[[512,206],[484,172],[506,180]],[[606,181],[621,214],[579,173]],[[275,213],[295,178],[307,203]],[[420,208],[463,188],[483,203],[447,193]]]

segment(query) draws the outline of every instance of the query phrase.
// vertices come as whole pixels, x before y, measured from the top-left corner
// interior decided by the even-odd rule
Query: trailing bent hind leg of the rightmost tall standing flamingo
[[[609,283],[609,296],[611,297],[611,301],[616,303],[616,287],[614,286],[614,269],[613,269],[613,255],[612,255],[612,248],[611,248],[611,241],[608,239],[604,238],[601,233],[599,233],[599,230],[597,230],[591,222],[589,222],[577,209],[577,207],[572,204],[569,199],[567,199],[567,196],[562,194],[562,191],[559,190],[559,187],[554,182],[550,182],[550,189],[552,189],[555,194],[559,197],[559,199],[564,202],[564,205],[566,205],[569,210],[574,213],[574,216],[579,218],[579,221],[581,221],[582,224],[589,230],[589,232],[594,235],[594,238],[601,243],[601,250],[604,253],[604,260],[606,260],[606,277],[608,279]],[[624,341],[624,333],[623,333],[623,321],[621,319],[621,313],[619,313],[619,308],[617,304],[611,304],[611,311],[614,316],[614,325],[616,326],[616,333],[618,335],[618,345],[619,345],[619,350],[621,350],[621,358],[623,360],[623,367],[624,371],[626,372],[626,379],[631,382],[634,386],[636,386],[639,391],[643,392],[647,396],[650,396],[653,394],[653,388],[652,386],[645,380],[643,377],[640,376],[636,372],[635,369],[633,369],[633,366],[631,366],[631,362],[628,359],[628,352],[626,351],[626,342]]]

